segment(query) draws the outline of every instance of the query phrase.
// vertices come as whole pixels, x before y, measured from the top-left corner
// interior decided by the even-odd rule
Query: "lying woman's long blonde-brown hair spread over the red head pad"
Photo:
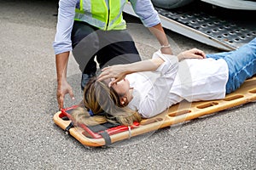
[[[71,114],[75,123],[93,126],[104,122],[119,122],[129,126],[142,120],[137,111],[121,104],[119,94],[113,88],[96,81],[96,77],[92,77],[85,86],[83,103],[83,106],[79,106]],[[94,116],[90,116],[91,112]]]

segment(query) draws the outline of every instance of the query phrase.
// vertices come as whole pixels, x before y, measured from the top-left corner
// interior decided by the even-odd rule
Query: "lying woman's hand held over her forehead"
[[[113,85],[114,83],[123,80],[126,75],[127,72],[125,70],[125,65],[112,65],[102,69],[102,73],[99,77],[97,77],[97,81],[114,78],[114,80],[110,83],[110,85]]]

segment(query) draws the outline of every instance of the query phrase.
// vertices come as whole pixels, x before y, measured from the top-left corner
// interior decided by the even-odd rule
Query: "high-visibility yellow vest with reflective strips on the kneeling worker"
[[[127,0],[80,0],[75,20],[84,21],[101,30],[124,30],[122,11]]]

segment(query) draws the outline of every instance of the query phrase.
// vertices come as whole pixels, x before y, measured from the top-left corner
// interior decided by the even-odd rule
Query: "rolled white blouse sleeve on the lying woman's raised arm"
[[[153,58],[164,59],[165,62],[156,70],[160,72],[160,77],[156,78],[152,88],[144,99],[141,99],[138,112],[145,118],[149,118],[165,111],[170,103],[168,95],[172,88],[172,83],[177,75],[178,59],[173,55],[161,54],[160,51],[154,53]]]

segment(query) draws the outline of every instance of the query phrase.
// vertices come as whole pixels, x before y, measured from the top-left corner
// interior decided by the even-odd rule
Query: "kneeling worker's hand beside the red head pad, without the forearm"
[[[58,83],[57,87],[57,101],[59,105],[59,110],[63,108],[63,103],[65,95],[69,94],[71,99],[74,99],[73,90],[67,81],[62,81],[61,84]]]

